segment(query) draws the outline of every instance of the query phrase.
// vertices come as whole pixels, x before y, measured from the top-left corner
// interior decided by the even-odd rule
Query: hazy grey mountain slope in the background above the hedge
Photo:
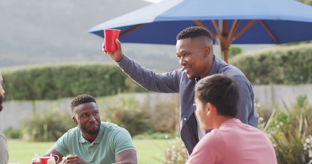
[[[0,1],[1,68],[9,66],[113,62],[103,38],[87,31],[151,3],[142,0]],[[123,53],[153,70],[181,68],[174,45],[122,43]],[[243,48],[244,50],[244,48]],[[215,53],[220,56],[219,48]]]

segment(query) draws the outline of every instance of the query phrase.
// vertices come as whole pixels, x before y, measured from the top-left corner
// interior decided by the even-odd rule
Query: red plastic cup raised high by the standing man
[[[115,29],[103,29],[104,30],[104,41],[105,41],[105,51],[116,51],[117,44],[115,42],[116,38],[119,38],[120,30]]]

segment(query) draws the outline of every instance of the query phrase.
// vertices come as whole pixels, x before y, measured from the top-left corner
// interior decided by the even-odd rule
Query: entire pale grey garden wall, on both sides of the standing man
[[[281,98],[288,106],[296,101],[300,95],[307,95],[312,104],[312,84],[296,86],[288,85],[254,85],[255,100],[260,102],[262,108],[271,108],[274,102],[283,107]],[[165,93],[128,93],[118,94],[110,97],[96,98],[99,109],[105,108],[111,103],[117,103],[120,98],[135,98],[140,102],[149,104],[150,112],[159,102],[173,102],[179,107],[178,94]],[[20,127],[20,121],[29,118],[34,112],[38,114],[46,113],[50,110],[59,110],[63,113],[71,114],[70,103],[73,98],[62,98],[59,100],[36,100],[36,101],[8,101],[3,103],[3,111],[0,113],[0,130],[8,127]]]

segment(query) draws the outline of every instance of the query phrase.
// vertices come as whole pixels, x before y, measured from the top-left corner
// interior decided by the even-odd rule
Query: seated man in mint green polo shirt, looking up
[[[62,164],[137,163],[129,132],[115,124],[101,122],[98,106],[92,96],[77,96],[71,102],[71,111],[72,119],[78,126],[68,130],[43,156],[52,153],[60,159],[64,157],[59,160]]]

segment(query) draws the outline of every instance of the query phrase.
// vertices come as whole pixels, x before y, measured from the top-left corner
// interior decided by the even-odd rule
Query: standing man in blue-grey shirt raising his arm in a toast
[[[189,154],[197,142],[210,131],[200,129],[194,114],[194,87],[198,80],[206,76],[222,72],[231,75],[240,86],[239,110],[236,118],[245,124],[258,127],[251,83],[238,68],[214,55],[212,36],[205,28],[188,27],[178,34],[176,50],[182,68],[162,74],[146,69],[131,60],[122,53],[119,40],[116,39],[115,42],[117,51],[105,51],[103,43],[103,52],[115,60],[122,71],[136,83],[149,91],[180,93],[180,136]]]

